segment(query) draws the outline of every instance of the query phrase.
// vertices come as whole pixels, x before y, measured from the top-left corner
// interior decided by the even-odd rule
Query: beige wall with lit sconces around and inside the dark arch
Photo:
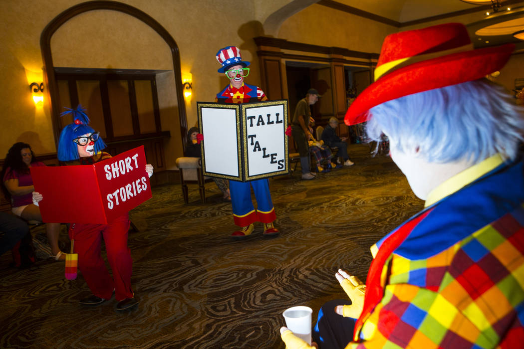
[[[43,106],[36,107],[28,85],[32,81],[43,81],[39,43],[42,30],[63,10],[81,2],[0,2],[0,54],[3,58],[0,79],[5,86],[0,99],[3,112],[0,158],[17,141],[29,142],[37,154],[56,151],[49,101],[44,100]],[[256,20],[260,15],[256,14],[255,3],[238,2],[233,13],[226,11],[224,3],[217,0],[128,0],[125,3],[155,18],[177,42],[182,76],[192,75],[193,81],[192,97],[186,104],[189,127],[196,123],[196,101],[213,101],[215,94],[228,82],[217,73],[220,65],[215,53],[220,48],[241,47],[243,58],[253,62],[247,81],[260,84],[256,45],[252,40],[260,35],[261,27]],[[274,2],[271,6],[278,4]],[[172,69],[167,44],[139,20],[117,12],[94,11],[74,17],[55,33],[51,46],[55,66]],[[170,110],[177,108],[172,100],[166,105]],[[165,112],[162,119],[166,120]],[[178,120],[168,124],[162,125],[162,129],[178,127]],[[170,131],[179,148],[174,153],[179,154],[179,132]]]

